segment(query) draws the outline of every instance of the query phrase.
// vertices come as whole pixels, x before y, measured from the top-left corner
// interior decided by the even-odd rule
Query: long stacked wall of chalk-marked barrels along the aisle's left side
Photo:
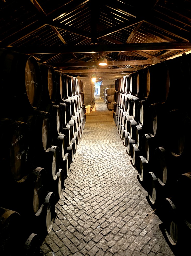
[[[0,52],[0,252],[33,255],[52,229],[83,133],[83,83],[33,56]]]

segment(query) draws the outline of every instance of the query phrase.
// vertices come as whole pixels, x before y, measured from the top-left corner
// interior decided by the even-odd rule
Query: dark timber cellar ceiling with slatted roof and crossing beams
[[[117,79],[191,50],[191,1],[1,0],[0,48]],[[101,57],[107,66],[99,66]]]

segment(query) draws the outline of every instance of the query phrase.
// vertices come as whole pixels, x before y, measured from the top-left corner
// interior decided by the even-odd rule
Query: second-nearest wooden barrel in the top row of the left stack
[[[57,85],[54,68],[50,65],[38,63],[41,70],[43,96],[41,107],[56,101]]]

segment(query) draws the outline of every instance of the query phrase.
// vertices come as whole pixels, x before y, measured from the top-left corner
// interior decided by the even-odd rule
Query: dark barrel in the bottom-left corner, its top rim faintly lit
[[[21,237],[21,216],[18,212],[0,207],[0,254],[1,256],[19,255]]]

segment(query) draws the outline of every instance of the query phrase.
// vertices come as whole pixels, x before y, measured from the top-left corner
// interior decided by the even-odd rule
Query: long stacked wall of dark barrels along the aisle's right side
[[[116,128],[172,245],[191,238],[190,85],[189,54],[116,80]]]

